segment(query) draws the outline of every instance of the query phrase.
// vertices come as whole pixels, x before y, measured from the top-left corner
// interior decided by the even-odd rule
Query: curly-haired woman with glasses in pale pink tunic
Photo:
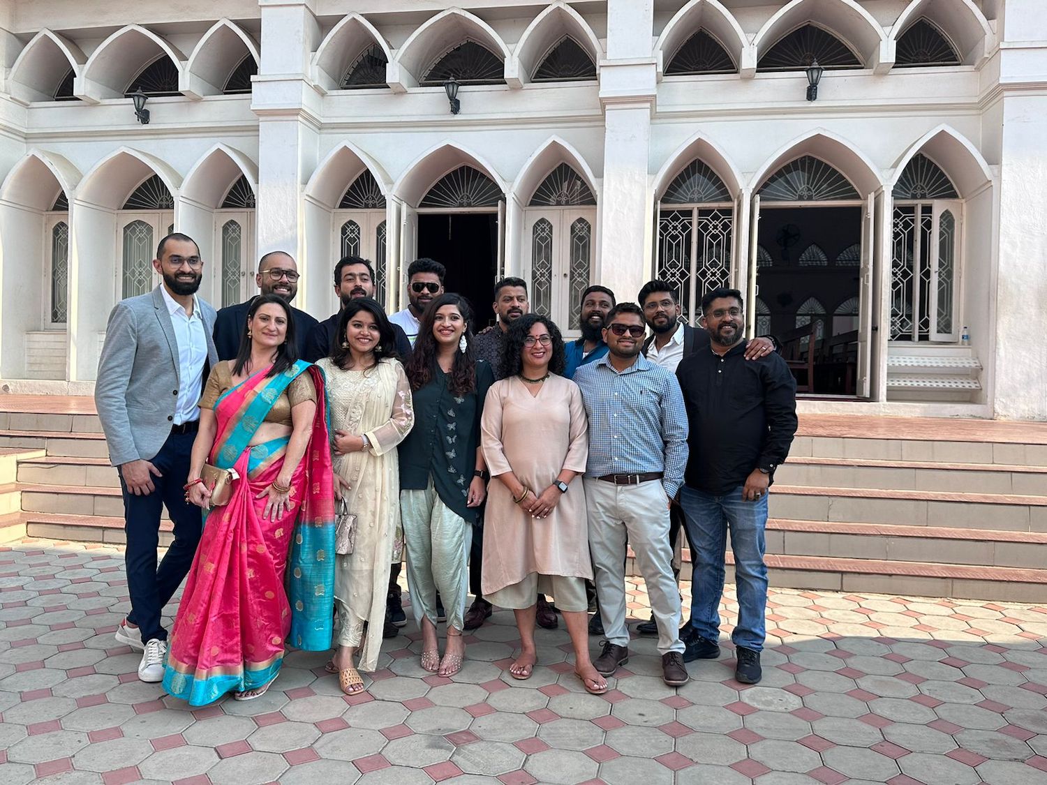
[[[585,493],[588,423],[581,390],[561,376],[563,338],[556,324],[528,314],[509,328],[504,377],[487,394],[482,445],[491,475],[484,522],[483,590],[512,608],[521,651],[509,666],[531,677],[537,661],[537,592],[551,593],[575,650],[575,673],[587,692],[607,691],[588,652],[585,579],[589,562]]]

